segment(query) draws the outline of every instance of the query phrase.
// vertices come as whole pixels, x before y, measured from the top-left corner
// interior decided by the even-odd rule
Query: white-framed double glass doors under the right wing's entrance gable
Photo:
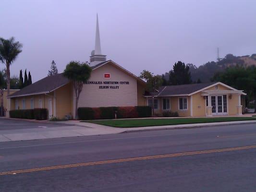
[[[211,96],[212,115],[227,115],[227,95]]]

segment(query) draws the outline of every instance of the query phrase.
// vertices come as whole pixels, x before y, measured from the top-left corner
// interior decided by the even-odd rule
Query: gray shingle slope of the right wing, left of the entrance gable
[[[215,83],[216,82],[202,83],[202,84],[181,84],[181,85],[161,86],[157,93],[154,92],[154,93],[151,93],[151,95],[154,95],[154,96],[187,95]]]

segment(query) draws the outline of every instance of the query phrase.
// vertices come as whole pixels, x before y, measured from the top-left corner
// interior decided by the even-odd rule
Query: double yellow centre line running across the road
[[[225,148],[225,149],[215,149],[215,150],[207,150],[207,151],[194,151],[194,152],[167,154],[167,155],[157,155],[157,156],[142,156],[142,157],[134,157],[134,158],[126,158],[126,159],[115,159],[115,160],[106,160],[106,161],[96,161],[96,162],[88,162],[88,163],[77,163],[77,164],[52,166],[52,167],[44,167],[44,168],[31,168],[31,169],[23,169],[23,170],[13,170],[13,171],[0,172],[0,175],[13,175],[13,174],[18,174],[18,173],[46,171],[46,170],[61,169],[61,168],[75,168],[75,167],[82,167],[82,166],[102,165],[102,164],[110,164],[110,163],[121,163],[121,162],[128,162],[128,161],[148,160],[148,159],[177,157],[177,156],[191,156],[191,155],[208,154],[208,153],[220,153],[220,152],[227,152],[227,151],[253,149],[253,148],[256,148],[256,145],[244,146],[244,147],[234,147],[234,148]]]

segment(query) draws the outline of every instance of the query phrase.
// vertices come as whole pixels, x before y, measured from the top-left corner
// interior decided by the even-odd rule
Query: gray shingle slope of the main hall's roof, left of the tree
[[[9,97],[35,95],[39,93],[49,93],[54,89],[69,83],[70,80],[63,76],[63,73],[45,77],[34,84],[30,84],[23,89],[11,94]]]

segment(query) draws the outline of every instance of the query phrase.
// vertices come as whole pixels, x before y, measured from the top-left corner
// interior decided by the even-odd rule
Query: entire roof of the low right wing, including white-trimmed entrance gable
[[[201,83],[201,84],[181,84],[181,85],[169,85],[169,86],[161,86],[158,92],[151,93],[151,96],[163,97],[163,96],[191,96],[200,91],[203,91],[207,88],[215,86],[217,84],[221,84],[233,91],[239,91],[227,84],[223,84],[221,82],[209,82],[209,83]],[[245,93],[242,93],[246,95]]]

